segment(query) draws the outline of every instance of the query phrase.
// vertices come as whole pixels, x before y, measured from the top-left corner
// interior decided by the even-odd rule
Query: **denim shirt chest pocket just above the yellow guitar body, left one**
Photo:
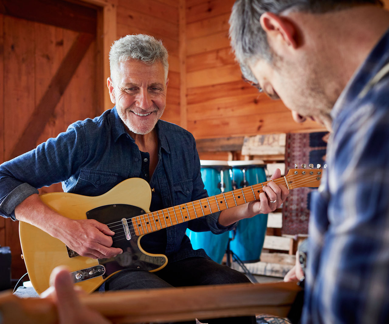
[[[77,181],[77,192],[83,195],[102,195],[116,185],[117,173],[81,169]]]

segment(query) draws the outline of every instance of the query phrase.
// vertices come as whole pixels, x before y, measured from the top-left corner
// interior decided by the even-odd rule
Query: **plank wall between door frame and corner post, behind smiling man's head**
[[[169,52],[169,85],[163,119],[180,124],[179,1],[118,0],[117,38],[145,33],[161,39]]]

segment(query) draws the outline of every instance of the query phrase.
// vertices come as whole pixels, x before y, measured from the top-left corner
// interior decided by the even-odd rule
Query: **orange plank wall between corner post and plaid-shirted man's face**
[[[186,0],[187,129],[196,139],[317,131],[241,80],[228,40],[235,0]]]

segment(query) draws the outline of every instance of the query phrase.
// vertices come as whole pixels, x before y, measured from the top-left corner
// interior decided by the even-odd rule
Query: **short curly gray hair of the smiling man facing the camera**
[[[168,75],[168,51],[161,40],[145,34],[127,35],[116,40],[109,51],[109,67],[111,72],[119,62],[134,59],[146,64],[160,62],[165,70],[165,79]]]

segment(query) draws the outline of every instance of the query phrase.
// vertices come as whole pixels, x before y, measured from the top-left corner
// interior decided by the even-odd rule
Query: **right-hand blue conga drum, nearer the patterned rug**
[[[233,188],[245,188],[266,181],[265,167],[262,160],[229,161],[232,167]],[[259,261],[265,240],[267,214],[258,214],[252,218],[238,221],[232,231],[233,240],[230,249],[244,262]]]

